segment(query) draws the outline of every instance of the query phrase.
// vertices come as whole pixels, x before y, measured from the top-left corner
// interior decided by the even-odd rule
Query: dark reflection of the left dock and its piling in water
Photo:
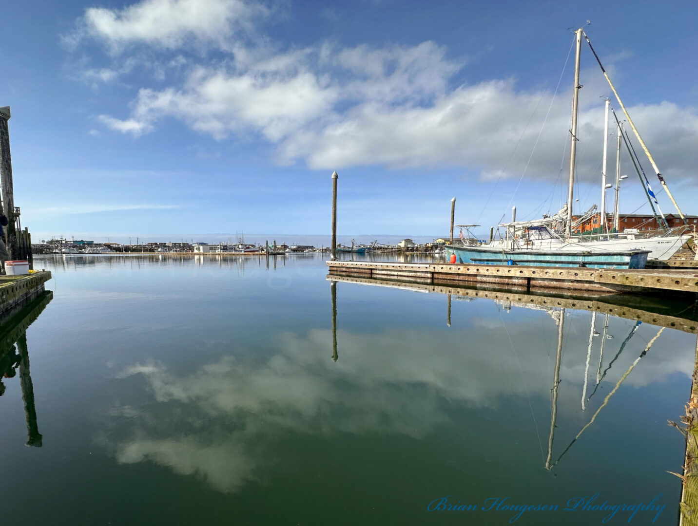
[[[5,393],[3,384],[20,371],[20,386],[24,402],[24,414],[27,417],[27,446],[41,447],[43,437],[38,430],[36,406],[34,404],[34,384],[29,371],[29,348],[27,346],[27,328],[47,306],[53,292],[39,294],[24,308],[10,314],[0,324],[0,396]]]

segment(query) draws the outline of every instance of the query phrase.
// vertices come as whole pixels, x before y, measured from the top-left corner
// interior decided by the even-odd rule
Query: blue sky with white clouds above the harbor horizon
[[[519,218],[554,212],[569,28],[591,20],[671,190],[698,214],[697,15],[678,1],[11,3],[0,105],[15,202],[34,239],[328,234],[337,170],[340,234],[443,235],[454,196],[456,222],[483,232],[512,204]],[[586,210],[600,201],[612,93],[586,46],[581,69]],[[614,137],[609,150],[614,174]],[[621,211],[647,212],[621,164]]]

